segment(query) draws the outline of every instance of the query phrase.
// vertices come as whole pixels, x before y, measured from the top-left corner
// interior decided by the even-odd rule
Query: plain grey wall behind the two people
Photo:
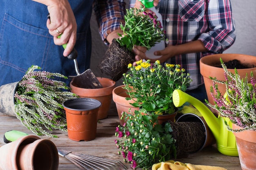
[[[128,0],[126,6],[128,8]],[[240,53],[256,56],[256,1],[255,0],[231,0],[233,15],[236,23],[236,41],[224,53]],[[92,31],[92,58],[91,69],[96,76],[101,76],[97,64],[108,49],[99,36],[95,16],[91,19]],[[103,76],[106,77],[106,76]],[[122,85],[120,79],[116,86]],[[109,115],[117,114],[115,103],[112,101]]]

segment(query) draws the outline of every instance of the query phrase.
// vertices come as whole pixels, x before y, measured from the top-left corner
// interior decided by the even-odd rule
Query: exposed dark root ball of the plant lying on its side
[[[200,122],[167,123],[171,124],[173,129],[171,135],[176,140],[177,156],[197,152],[204,146],[206,135],[204,125]]]

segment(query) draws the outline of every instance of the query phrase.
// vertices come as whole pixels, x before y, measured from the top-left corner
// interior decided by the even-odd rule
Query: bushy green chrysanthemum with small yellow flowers
[[[175,112],[173,104],[173,91],[180,89],[186,91],[192,81],[189,73],[179,64],[166,64],[162,66],[157,60],[150,64],[150,60],[136,62],[137,66],[128,64],[130,69],[124,73],[123,84],[128,91],[127,100],[134,100],[131,105],[139,107],[141,111],[155,112],[157,115]]]

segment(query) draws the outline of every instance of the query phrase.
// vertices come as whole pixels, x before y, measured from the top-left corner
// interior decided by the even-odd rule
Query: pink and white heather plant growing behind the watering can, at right
[[[250,78],[246,75],[241,79],[238,71],[235,73],[228,71],[223,60],[220,59],[226,81],[219,81],[216,77],[210,77],[213,80],[213,86],[210,88],[211,95],[214,99],[214,104],[207,104],[218,111],[222,117],[228,117],[232,123],[242,127],[240,130],[232,129],[227,122],[227,129],[232,132],[243,130],[256,130],[256,81],[253,72],[250,73]],[[218,90],[218,84],[226,85],[226,93],[221,94]]]

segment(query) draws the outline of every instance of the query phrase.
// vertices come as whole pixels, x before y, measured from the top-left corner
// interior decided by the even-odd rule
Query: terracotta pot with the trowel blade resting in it
[[[101,107],[98,112],[98,119],[105,119],[108,117],[108,111],[112,101],[112,91],[115,88],[116,82],[112,79],[97,77],[103,88],[79,88],[70,82],[71,92],[82,98],[97,99],[101,102]]]

